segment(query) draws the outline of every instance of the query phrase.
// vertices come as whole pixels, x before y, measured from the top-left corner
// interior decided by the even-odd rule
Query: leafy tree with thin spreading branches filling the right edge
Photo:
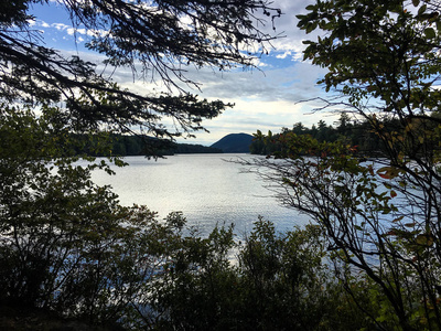
[[[342,94],[324,108],[366,120],[381,157],[366,163],[353,146],[291,135],[277,156],[284,161],[259,161],[272,171],[262,173],[322,226],[347,290],[359,278],[370,285],[378,309],[359,306],[378,328],[440,330],[440,6],[342,0],[306,9],[299,28],[325,34],[305,42],[304,58],[327,68],[321,83]]]

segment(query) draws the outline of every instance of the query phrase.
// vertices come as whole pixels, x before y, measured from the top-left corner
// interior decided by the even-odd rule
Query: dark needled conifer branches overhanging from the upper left
[[[256,23],[263,22],[262,15],[273,20],[281,14],[267,1],[256,0],[56,2],[75,29],[89,31],[86,47],[99,53],[104,64],[129,67],[147,81],[159,79],[170,92],[141,95],[122,89],[110,76],[97,73],[94,64],[46,47],[43,35],[30,25],[34,18],[29,11],[34,3],[54,4],[19,0],[0,7],[0,98],[33,106],[63,102],[75,130],[105,125],[129,132],[139,127],[158,138],[191,135],[203,129],[203,118],[232,106],[186,93],[182,84],[198,86],[186,78],[186,70],[252,65],[254,54],[265,52],[273,39]],[[161,125],[164,117],[174,120],[174,130]]]

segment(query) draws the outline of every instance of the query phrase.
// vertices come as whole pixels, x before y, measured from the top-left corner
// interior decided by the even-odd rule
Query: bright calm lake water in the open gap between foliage
[[[147,205],[161,218],[173,211],[183,212],[189,225],[202,234],[217,224],[235,224],[235,233],[244,235],[258,216],[276,224],[277,229],[303,225],[306,216],[281,206],[254,173],[225,160],[255,158],[249,154],[181,154],[148,160],[127,157],[130,166],[116,168],[116,175],[94,172],[97,184],[110,184],[123,205]]]

